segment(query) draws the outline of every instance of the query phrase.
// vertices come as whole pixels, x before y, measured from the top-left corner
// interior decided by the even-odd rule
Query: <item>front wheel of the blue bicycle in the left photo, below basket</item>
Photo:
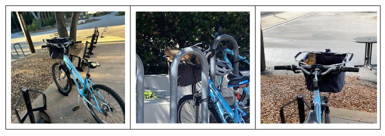
[[[72,89],[72,80],[68,68],[63,63],[54,63],[52,65],[52,78],[57,86],[57,90],[62,95],[68,96]]]

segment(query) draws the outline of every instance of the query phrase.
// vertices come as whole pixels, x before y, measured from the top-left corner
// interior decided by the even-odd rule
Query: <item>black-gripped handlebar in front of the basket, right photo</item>
[[[325,67],[323,67],[325,68]],[[286,65],[286,66],[274,66],[274,70],[301,70],[303,73],[307,75],[314,75],[314,72],[310,73],[303,67],[295,66],[295,65]],[[326,71],[320,73],[319,75],[323,76],[330,72],[337,71],[337,72],[358,72],[359,68],[351,68],[351,67],[342,67],[342,66],[336,66],[336,67],[330,67]]]

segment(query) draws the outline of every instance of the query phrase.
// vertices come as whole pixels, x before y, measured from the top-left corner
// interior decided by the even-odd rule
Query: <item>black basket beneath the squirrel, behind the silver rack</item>
[[[191,59],[195,60],[195,59]],[[168,75],[170,74],[171,62],[167,61]],[[201,81],[201,68],[194,62],[179,62],[178,64],[178,87],[185,87]]]

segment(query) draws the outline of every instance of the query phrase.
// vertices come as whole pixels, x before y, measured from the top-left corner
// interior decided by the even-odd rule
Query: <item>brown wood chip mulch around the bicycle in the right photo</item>
[[[279,108],[295,99],[297,94],[303,94],[309,103],[313,93],[306,89],[304,76],[261,75],[260,86],[260,121],[261,123],[280,123]],[[377,112],[376,83],[359,79],[356,76],[346,77],[345,85],[340,93],[331,93],[331,107]],[[322,93],[328,96],[328,93]],[[296,102],[284,109],[286,123],[298,123]],[[307,111],[306,111],[307,113]]]

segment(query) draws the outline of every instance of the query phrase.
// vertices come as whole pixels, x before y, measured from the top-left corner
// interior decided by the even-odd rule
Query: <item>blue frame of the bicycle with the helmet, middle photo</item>
[[[209,95],[212,101],[216,102],[215,106],[218,109],[218,113],[220,114],[220,118],[222,119],[223,123],[227,123],[224,117],[224,112],[227,112],[228,117],[234,123],[244,122],[240,114],[244,116],[245,113],[238,107],[237,103],[235,104],[234,111],[232,111],[231,107],[226,103],[224,98],[220,95],[219,90],[215,87],[215,85],[212,83],[211,80],[208,80],[208,87],[209,87]]]

